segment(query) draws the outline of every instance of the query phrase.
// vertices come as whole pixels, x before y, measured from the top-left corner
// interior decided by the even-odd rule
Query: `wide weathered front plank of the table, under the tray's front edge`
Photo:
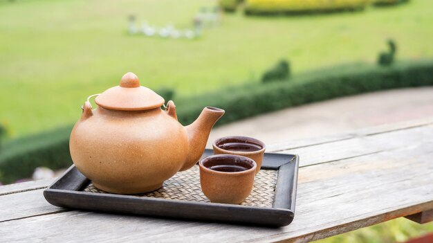
[[[317,240],[433,208],[433,143],[407,141],[398,151],[300,168],[295,220],[284,228],[71,211],[3,222],[0,232],[6,242]],[[14,233],[19,226],[26,231]]]

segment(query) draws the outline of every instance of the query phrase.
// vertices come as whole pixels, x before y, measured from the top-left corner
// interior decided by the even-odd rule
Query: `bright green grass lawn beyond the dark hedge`
[[[201,39],[127,34],[127,17],[190,26],[199,0],[0,1],[0,123],[22,136],[73,123],[87,96],[127,71],[156,89],[190,96],[256,80],[282,57],[293,72],[374,62],[385,40],[399,58],[433,56],[433,1],[300,17],[224,15]]]

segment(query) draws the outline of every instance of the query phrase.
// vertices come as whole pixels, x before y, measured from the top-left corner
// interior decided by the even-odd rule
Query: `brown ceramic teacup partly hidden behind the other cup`
[[[236,154],[246,156],[257,163],[256,174],[261,168],[266,145],[256,138],[248,136],[225,136],[212,144],[214,154]]]

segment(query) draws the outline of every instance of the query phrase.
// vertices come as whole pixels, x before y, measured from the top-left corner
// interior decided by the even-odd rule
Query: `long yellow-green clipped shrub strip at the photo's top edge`
[[[246,0],[245,12],[250,15],[281,14],[296,12],[333,12],[360,10],[369,0]]]

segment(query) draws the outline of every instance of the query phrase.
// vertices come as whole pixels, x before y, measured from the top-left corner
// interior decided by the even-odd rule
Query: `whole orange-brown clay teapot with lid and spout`
[[[101,190],[135,194],[156,190],[199,161],[222,109],[205,107],[194,123],[178,123],[174,102],[140,86],[133,73],[84,103],[71,132],[73,163]]]

